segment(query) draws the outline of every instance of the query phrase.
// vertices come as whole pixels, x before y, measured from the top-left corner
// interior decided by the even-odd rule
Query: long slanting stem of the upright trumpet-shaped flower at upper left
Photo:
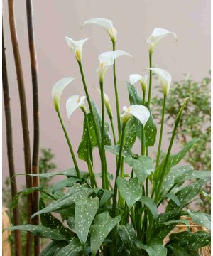
[[[97,138],[97,146],[99,148],[99,154],[100,154],[100,157],[102,157],[102,154],[101,154],[101,144],[100,144],[100,138],[99,138],[99,131],[98,131],[96,120],[94,118],[94,112],[92,110],[92,102],[90,100],[89,92],[87,90],[87,84],[86,84],[86,81],[85,81],[85,78],[84,78],[84,72],[83,72],[83,69],[82,69],[82,63],[80,61],[78,61],[77,63],[78,63],[79,68],[80,68],[80,73],[81,73],[81,76],[82,76],[82,82],[83,82],[83,85],[84,85],[84,91],[85,91],[85,94],[86,94],[86,97],[87,97],[87,102],[88,102],[88,105],[89,105],[89,111],[92,114],[92,122],[93,122],[93,125],[94,125],[94,132],[95,132],[95,135],[96,135],[96,138]]]

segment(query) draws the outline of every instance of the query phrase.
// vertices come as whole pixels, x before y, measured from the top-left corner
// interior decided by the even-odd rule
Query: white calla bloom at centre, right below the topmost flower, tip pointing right
[[[126,53],[124,50],[114,50],[114,51],[108,51],[104,52],[101,55],[99,55],[99,68],[97,68],[96,72],[99,75],[99,80],[104,80],[104,75],[109,68],[109,66],[114,64],[114,60],[116,58],[119,58],[120,56],[129,56],[131,55],[129,53]]]

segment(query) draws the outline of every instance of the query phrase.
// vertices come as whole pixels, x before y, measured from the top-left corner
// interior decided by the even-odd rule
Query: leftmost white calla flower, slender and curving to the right
[[[52,99],[56,111],[60,110],[60,97],[63,90],[65,90],[65,87],[67,87],[67,85],[69,85],[73,80],[75,80],[75,78],[62,78],[53,86]]]

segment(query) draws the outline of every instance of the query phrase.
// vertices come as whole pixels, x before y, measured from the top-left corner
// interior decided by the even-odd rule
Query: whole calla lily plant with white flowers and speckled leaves
[[[179,166],[178,163],[192,146],[199,141],[193,139],[183,149],[175,152],[173,143],[178,131],[182,113],[190,98],[182,103],[175,119],[171,138],[164,135],[166,98],[169,97],[171,75],[162,68],[153,68],[152,55],[159,41],[168,35],[176,34],[163,28],[155,28],[148,37],[149,75],[133,73],[124,85],[117,84],[115,60],[129,56],[124,50],[116,50],[117,31],[112,21],[105,18],[91,18],[84,22],[104,28],[109,34],[113,48],[99,55],[99,68],[90,70],[98,75],[99,102],[94,103],[90,95],[92,86],[87,84],[82,67],[82,46],[84,40],[74,41],[67,38],[70,50],[74,50],[80,68],[82,87],[79,95],[69,95],[66,106],[61,101],[62,92],[70,87],[75,78],[62,78],[52,90],[53,106],[58,114],[62,132],[70,149],[69,169],[46,176],[65,176],[53,184],[53,188],[29,188],[24,194],[40,191],[40,210],[32,215],[40,215],[40,225],[11,226],[10,230],[29,231],[42,238],[52,240],[45,247],[42,256],[83,255],[83,256],[174,256],[197,255],[200,247],[209,245],[209,215],[190,209],[190,203],[209,181],[209,171],[196,171],[192,166]],[[89,41],[88,41],[89,43]],[[67,51],[68,52],[68,51]],[[95,57],[97,58],[97,57]],[[126,59],[128,61],[128,58]],[[124,63],[119,63],[122,68]],[[113,66],[114,85],[107,84],[105,75]],[[146,67],[141,67],[144,70]],[[151,92],[153,73],[162,87],[163,106],[160,134],[157,141],[157,126],[153,118]],[[73,74],[74,75],[74,74]],[[110,75],[109,71],[107,75]],[[78,77],[77,74],[75,74]],[[124,76],[121,73],[121,78]],[[148,79],[149,77],[149,79]],[[78,78],[77,78],[78,80]],[[136,84],[141,85],[137,90]],[[115,97],[104,90],[114,86]],[[155,90],[155,87],[153,87]],[[84,96],[85,95],[85,96]],[[122,101],[129,97],[129,107],[120,111],[119,97]],[[99,107],[101,111],[99,111]],[[114,122],[114,105],[116,122]],[[62,119],[61,108],[67,110],[69,130]],[[72,145],[72,114],[80,108],[82,117],[82,139],[78,147]],[[105,115],[107,109],[107,116]],[[72,117],[71,117],[72,116]],[[108,124],[110,122],[111,126]],[[117,130],[114,124],[117,124]],[[68,134],[70,132],[70,136]],[[111,139],[113,137],[113,141]],[[162,154],[162,143],[165,154]],[[139,144],[141,150],[135,146]],[[155,157],[153,146],[157,144]],[[97,153],[95,151],[97,149]],[[114,158],[110,158],[110,154]],[[77,157],[78,156],[78,157]],[[84,164],[86,166],[84,166]],[[111,163],[109,165],[109,162]],[[114,164],[114,166],[113,166]],[[178,166],[176,166],[178,165]],[[79,168],[82,166],[82,170]],[[38,174],[44,177],[45,174]],[[48,196],[43,197],[45,193]],[[20,196],[21,193],[18,193]],[[11,209],[16,207],[17,198]],[[52,201],[49,203],[49,201]],[[187,210],[186,210],[187,209]],[[57,216],[52,213],[58,213]],[[185,228],[184,232],[173,233],[175,225],[189,226],[186,215],[193,223],[204,225],[206,231],[193,233]],[[169,237],[169,238],[168,238]],[[166,238],[166,240],[165,240]]]

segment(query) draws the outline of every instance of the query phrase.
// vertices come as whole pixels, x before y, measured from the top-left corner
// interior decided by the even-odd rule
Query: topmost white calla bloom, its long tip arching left
[[[117,31],[113,26],[112,21],[107,18],[90,18],[89,20],[85,21],[82,26],[87,24],[95,24],[104,28],[111,38],[111,41],[116,41]]]

